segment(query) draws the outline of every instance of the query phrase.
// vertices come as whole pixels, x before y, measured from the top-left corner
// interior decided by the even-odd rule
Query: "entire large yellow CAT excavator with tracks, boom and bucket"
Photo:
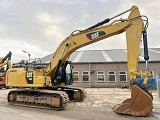
[[[128,18],[116,17],[130,11]],[[23,67],[11,68],[6,74],[6,85],[19,89],[8,93],[8,102],[12,105],[40,107],[46,109],[64,109],[69,100],[83,101],[86,92],[81,88],[68,87],[73,83],[72,65],[69,56],[77,49],[104,40],[105,38],[126,32],[128,73],[131,81],[131,98],[115,105],[117,113],[133,116],[147,116],[153,108],[152,94],[147,89],[150,76],[148,69],[138,72],[140,43],[143,36],[146,68],[148,68],[147,32],[148,18],[140,14],[137,6],[112,18],[107,18],[85,30],[76,30],[60,43],[50,63],[28,62]],[[136,82],[136,76],[142,74],[142,85]]]

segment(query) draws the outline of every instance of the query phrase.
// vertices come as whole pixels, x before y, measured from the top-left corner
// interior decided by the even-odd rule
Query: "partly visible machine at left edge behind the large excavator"
[[[5,79],[7,70],[12,67],[11,56],[12,52],[9,51],[9,53],[4,58],[0,57],[0,89],[7,88],[5,84]]]

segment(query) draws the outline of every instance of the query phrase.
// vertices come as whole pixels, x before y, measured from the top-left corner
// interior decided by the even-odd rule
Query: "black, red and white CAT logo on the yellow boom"
[[[89,33],[86,36],[89,40],[95,40],[103,35],[106,35],[104,31],[97,31],[97,32]]]

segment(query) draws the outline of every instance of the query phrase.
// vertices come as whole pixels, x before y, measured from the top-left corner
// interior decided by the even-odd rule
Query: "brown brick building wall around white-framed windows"
[[[121,86],[129,86],[129,75],[127,72],[127,64],[126,63],[73,63],[73,71],[79,72],[79,81],[74,82],[73,86],[79,87],[121,87]],[[155,74],[160,74],[160,64],[159,63],[150,63],[149,71],[154,72]],[[139,63],[139,71],[145,71],[146,66],[145,63]],[[83,82],[83,71],[91,71],[89,72],[89,82]],[[104,71],[105,73],[105,81],[97,82],[97,72]],[[108,81],[108,71],[115,71],[116,73],[116,82]],[[119,81],[119,71],[127,72],[127,82]]]

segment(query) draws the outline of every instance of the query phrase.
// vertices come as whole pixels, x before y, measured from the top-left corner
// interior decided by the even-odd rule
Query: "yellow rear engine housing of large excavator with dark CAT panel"
[[[44,76],[43,70],[12,68],[8,70],[6,84],[12,87],[47,87],[51,86],[50,76]]]

